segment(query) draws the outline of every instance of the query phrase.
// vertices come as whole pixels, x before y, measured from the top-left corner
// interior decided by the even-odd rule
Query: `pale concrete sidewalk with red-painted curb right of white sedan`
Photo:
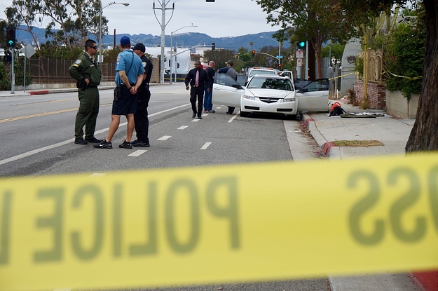
[[[305,113],[301,121],[310,130],[325,156],[329,159],[348,159],[359,156],[393,156],[404,154],[414,119],[398,119],[385,114],[383,110],[353,107],[340,102],[341,107],[348,112],[384,114],[376,118],[341,118],[329,116],[328,113]],[[328,109],[328,108],[327,108]],[[336,140],[378,140],[383,146],[376,147],[336,147]],[[416,283],[413,283],[413,280]],[[416,276],[406,273],[385,273],[378,275],[331,277],[331,291],[413,291],[427,290],[418,283]],[[430,291],[430,290],[427,290]]]

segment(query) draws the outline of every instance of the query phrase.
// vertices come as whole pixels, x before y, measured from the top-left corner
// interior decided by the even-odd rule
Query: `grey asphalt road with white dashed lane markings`
[[[237,110],[214,105],[215,114],[191,118],[189,91],[181,84],[151,87],[149,140],[151,147],[119,149],[126,134],[125,119],[113,139],[113,149],[74,144],[76,93],[1,97],[0,177],[209,166],[320,158],[319,148],[298,121],[284,117],[242,118]],[[103,139],[111,121],[112,90],[100,91],[95,136]],[[263,173],[257,173],[262,175]],[[291,262],[299,264],[299,262]],[[160,290],[329,290],[327,278],[284,280]]]

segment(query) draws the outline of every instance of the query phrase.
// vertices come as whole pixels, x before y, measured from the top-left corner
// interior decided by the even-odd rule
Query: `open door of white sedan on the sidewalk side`
[[[296,92],[298,111],[327,111],[329,79],[310,81]]]

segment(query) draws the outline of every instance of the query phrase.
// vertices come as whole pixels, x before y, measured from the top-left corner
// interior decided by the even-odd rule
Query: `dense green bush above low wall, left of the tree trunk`
[[[388,90],[399,90],[408,99],[412,93],[420,93],[422,79],[411,78],[423,74],[425,35],[425,29],[399,26],[393,36],[392,46],[385,50]]]

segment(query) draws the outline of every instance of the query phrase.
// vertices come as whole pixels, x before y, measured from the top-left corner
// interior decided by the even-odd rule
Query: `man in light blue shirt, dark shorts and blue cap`
[[[107,137],[99,144],[95,144],[96,149],[111,149],[111,140],[120,125],[120,116],[126,116],[128,121],[127,134],[123,143],[118,147],[132,149],[132,133],[134,132],[134,114],[137,109],[137,90],[143,81],[142,60],[131,48],[128,36],[123,36],[120,41],[122,52],[118,54],[116,61],[116,86],[117,89],[113,101],[111,112],[111,124]]]

